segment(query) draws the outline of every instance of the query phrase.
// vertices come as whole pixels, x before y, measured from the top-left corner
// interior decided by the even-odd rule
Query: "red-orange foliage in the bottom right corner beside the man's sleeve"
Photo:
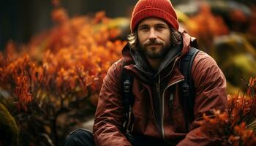
[[[256,145],[256,79],[251,78],[247,88],[246,95],[227,97],[227,111],[216,110],[214,118],[203,115],[203,131],[222,145]]]

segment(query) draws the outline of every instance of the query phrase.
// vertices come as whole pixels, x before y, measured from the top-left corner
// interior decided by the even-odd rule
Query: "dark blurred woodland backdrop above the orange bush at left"
[[[78,15],[90,15],[104,10],[110,18],[129,17],[132,6],[137,0],[61,0],[72,18]],[[7,41],[26,43],[29,39],[53,26],[50,13],[53,4],[50,0],[1,0],[0,1],[0,48]]]

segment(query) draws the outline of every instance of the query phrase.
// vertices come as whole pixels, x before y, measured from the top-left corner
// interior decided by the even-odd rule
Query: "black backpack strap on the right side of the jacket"
[[[195,47],[191,47],[189,53],[181,58],[180,70],[184,75],[184,81],[179,84],[181,89],[181,103],[184,110],[184,119],[186,122],[186,129],[189,131],[189,123],[194,120],[194,103],[195,103],[195,85],[192,79],[191,70],[192,64],[197,53]]]

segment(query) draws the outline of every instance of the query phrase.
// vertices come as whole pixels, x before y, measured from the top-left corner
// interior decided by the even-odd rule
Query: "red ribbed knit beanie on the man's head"
[[[178,31],[177,15],[170,0],[139,0],[132,12],[131,31],[134,32],[140,20],[145,18],[161,18]]]

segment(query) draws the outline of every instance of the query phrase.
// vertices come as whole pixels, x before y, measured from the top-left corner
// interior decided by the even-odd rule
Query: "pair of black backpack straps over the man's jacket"
[[[180,71],[184,75],[184,81],[179,83],[179,88],[181,89],[181,104],[184,110],[184,119],[186,122],[187,131],[189,131],[189,123],[192,123],[194,120],[194,102],[195,102],[195,85],[191,77],[192,63],[195,59],[195,56],[200,50],[197,50],[195,47],[191,47],[189,53],[181,58]],[[124,128],[126,129],[129,125],[129,121],[132,120],[132,107],[134,104],[134,96],[132,94],[132,82],[133,77],[127,72],[127,69],[124,69],[126,66],[124,62],[123,69],[121,71],[121,81],[123,88],[123,98],[124,98],[124,112],[126,116],[126,122],[124,123]]]

